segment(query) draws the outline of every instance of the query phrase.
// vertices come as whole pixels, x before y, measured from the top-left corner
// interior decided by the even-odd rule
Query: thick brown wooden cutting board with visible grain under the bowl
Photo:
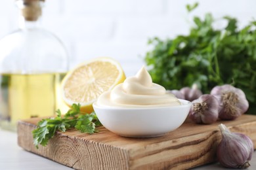
[[[221,140],[218,125],[251,137],[256,148],[256,116],[217,121],[211,125],[185,122],[162,137],[134,139],[120,137],[104,127],[88,135],[75,129],[56,137],[45,147],[33,145],[32,130],[40,118],[18,122],[18,144],[35,154],[74,169],[188,169],[216,161]],[[161,122],[158,122],[161,124]]]

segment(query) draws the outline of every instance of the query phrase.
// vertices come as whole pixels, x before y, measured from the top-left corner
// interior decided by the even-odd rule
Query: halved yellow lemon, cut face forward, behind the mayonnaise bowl
[[[98,96],[124,80],[125,73],[116,60],[95,58],[77,65],[64,77],[62,99],[69,107],[80,103],[81,111],[91,113]]]

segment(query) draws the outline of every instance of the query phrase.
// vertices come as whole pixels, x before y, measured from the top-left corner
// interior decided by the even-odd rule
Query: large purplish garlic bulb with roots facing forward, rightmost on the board
[[[219,118],[222,120],[234,120],[249,108],[245,93],[229,84],[215,86],[211,90],[211,95],[219,101]]]

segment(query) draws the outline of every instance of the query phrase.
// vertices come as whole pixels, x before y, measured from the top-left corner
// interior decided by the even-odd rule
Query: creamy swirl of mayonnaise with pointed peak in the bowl
[[[97,105],[104,107],[163,107],[181,105],[175,95],[166,93],[165,88],[152,82],[144,67],[135,76],[102,93]]]

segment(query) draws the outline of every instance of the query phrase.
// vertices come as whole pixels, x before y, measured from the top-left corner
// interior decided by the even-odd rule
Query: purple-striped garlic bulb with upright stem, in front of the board
[[[253,155],[253,141],[242,133],[232,133],[224,124],[219,125],[222,140],[217,146],[217,158],[224,167],[246,168]]]

